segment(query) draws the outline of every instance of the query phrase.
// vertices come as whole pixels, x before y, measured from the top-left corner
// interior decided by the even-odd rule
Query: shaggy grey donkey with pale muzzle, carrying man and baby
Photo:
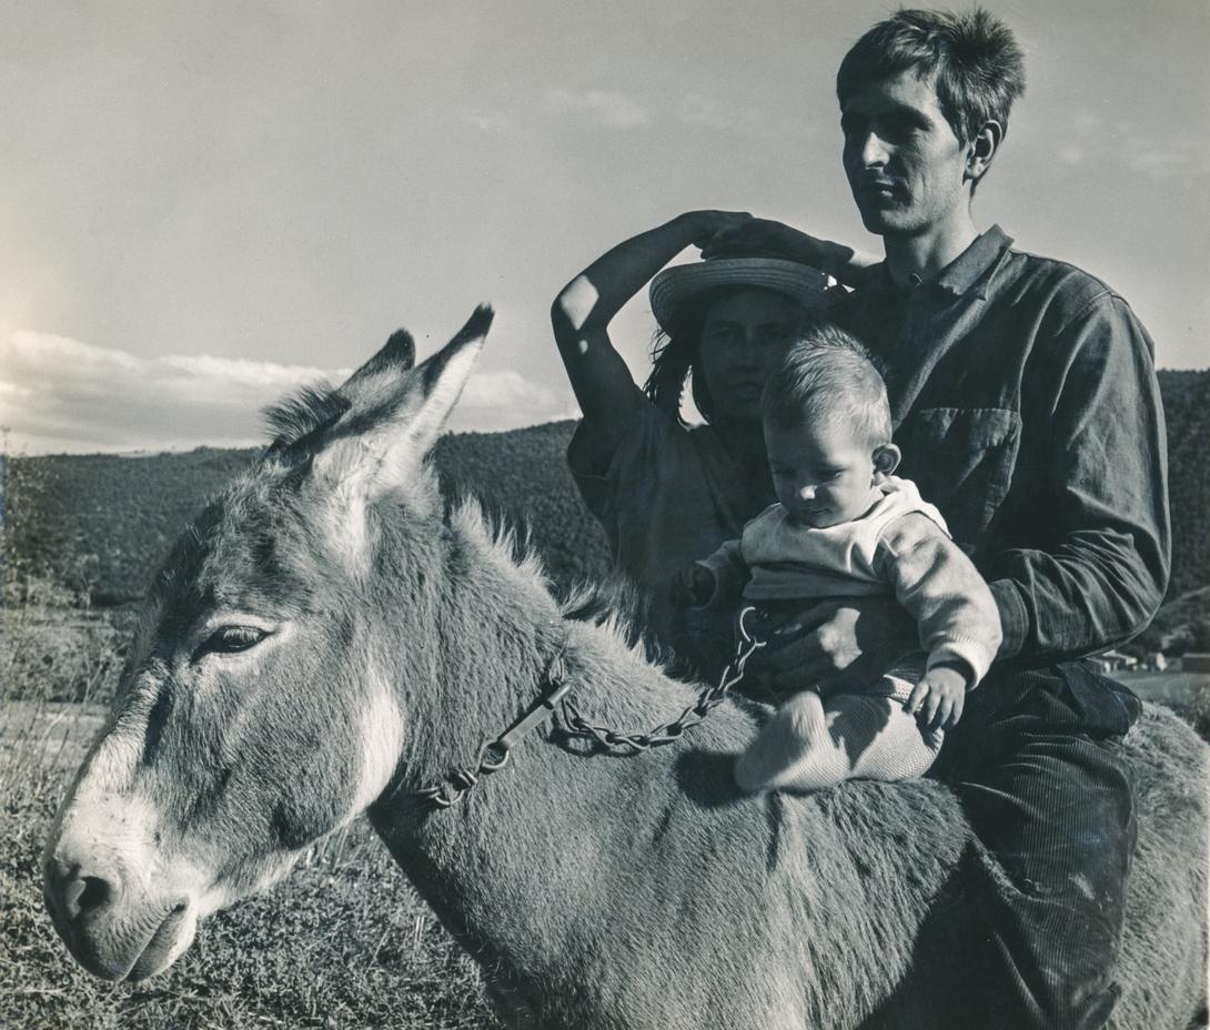
[[[426,454],[490,318],[414,369],[396,334],[281,405],[175,545],[46,846],[71,954],[150,977],[368,811],[511,1026],[974,1025],[970,899],[1014,888],[940,783],[739,796],[766,709],[727,697],[633,756],[536,717],[474,786],[507,759],[483,741],[555,685],[624,727],[699,691],[560,606],[473,501],[443,504]],[[1112,1025],[1185,1028],[1205,1001],[1208,747],[1154,707],[1125,747],[1140,833]]]

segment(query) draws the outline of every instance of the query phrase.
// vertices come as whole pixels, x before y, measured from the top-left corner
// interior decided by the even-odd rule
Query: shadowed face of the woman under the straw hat
[[[780,293],[744,289],[711,304],[702,322],[695,374],[714,401],[711,422],[760,425],[760,395],[784,356],[802,309]]]

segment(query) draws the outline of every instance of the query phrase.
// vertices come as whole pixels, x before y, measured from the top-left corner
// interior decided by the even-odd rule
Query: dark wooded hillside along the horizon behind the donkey
[[[1171,600],[1210,586],[1210,370],[1160,372],[1169,430]],[[594,577],[609,557],[566,471],[572,422],[446,436],[444,488],[471,489],[489,510],[530,528],[559,582]],[[171,542],[255,451],[200,448],[139,458],[56,455],[5,465],[4,554],[10,574],[51,576],[96,604],[142,595]]]

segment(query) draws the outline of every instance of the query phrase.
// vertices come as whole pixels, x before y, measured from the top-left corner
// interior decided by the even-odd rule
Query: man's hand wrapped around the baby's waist
[[[807,685],[824,696],[839,690],[859,694],[904,655],[920,650],[915,621],[886,597],[812,605],[786,618],[777,638],[786,643],[757,651],[753,661],[762,686],[780,697]]]

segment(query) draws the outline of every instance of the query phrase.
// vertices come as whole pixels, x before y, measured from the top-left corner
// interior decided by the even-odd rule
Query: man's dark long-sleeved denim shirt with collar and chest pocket
[[[1142,629],[1168,585],[1154,347],[1127,303],[993,226],[930,281],[883,265],[836,320],[885,362],[900,474],[987,579],[1015,667]]]

